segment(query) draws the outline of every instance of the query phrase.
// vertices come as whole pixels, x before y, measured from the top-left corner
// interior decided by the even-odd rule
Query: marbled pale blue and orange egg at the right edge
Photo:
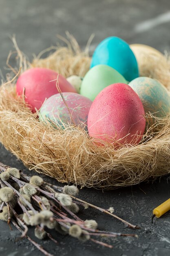
[[[149,77],[138,77],[129,83],[130,87],[141,99],[145,113],[151,113],[155,117],[165,117],[170,113],[170,96],[167,89]],[[150,118],[150,125],[155,119]]]

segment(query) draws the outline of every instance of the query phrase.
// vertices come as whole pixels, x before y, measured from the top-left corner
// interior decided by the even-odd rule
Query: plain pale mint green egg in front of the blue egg
[[[80,94],[93,101],[99,92],[101,92],[106,86],[113,83],[127,83],[127,81],[113,67],[109,67],[107,65],[96,65],[84,76],[80,88]]]

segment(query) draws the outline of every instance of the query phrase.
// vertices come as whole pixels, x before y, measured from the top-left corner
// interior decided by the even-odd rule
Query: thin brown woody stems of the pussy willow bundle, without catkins
[[[7,168],[10,168],[10,166],[7,166],[7,165],[4,165],[4,164],[0,163],[0,173],[6,171]],[[36,177],[36,176],[34,176],[34,177]],[[20,188],[22,188],[23,186],[28,184],[30,180],[31,180],[31,177],[29,177],[28,175],[25,175],[21,171],[20,171],[20,179],[18,179],[16,177],[13,177],[12,175],[10,175],[10,180],[8,180],[8,181],[6,181],[6,180],[2,181],[0,179],[1,187],[8,186],[9,188],[11,188],[13,190],[16,202],[18,203],[18,205],[22,209],[23,213],[25,213],[26,216],[28,217],[28,221],[31,221],[31,215],[29,213],[29,210],[31,210],[34,213],[34,215],[36,215],[37,213],[40,214],[40,212],[42,210],[47,210],[46,206],[42,202],[42,198],[39,196],[39,194],[40,194],[41,196],[50,199],[50,200],[47,200],[47,202],[49,203],[47,205],[50,208],[51,212],[53,213],[53,217],[51,217],[49,220],[51,222],[53,222],[53,221],[57,222],[58,225],[60,225],[60,227],[63,227],[64,229],[67,230],[67,233],[69,232],[69,229],[71,228],[71,224],[72,225],[75,224],[75,225],[79,226],[79,228],[84,230],[84,232],[86,231],[86,234],[88,236],[90,236],[90,240],[93,243],[97,243],[97,244],[106,246],[108,248],[112,248],[112,246],[108,245],[106,243],[97,241],[97,240],[91,238],[91,236],[105,236],[105,237],[108,237],[108,236],[110,236],[110,237],[133,236],[134,237],[135,236],[135,237],[137,237],[135,234],[121,234],[121,233],[114,233],[114,232],[99,231],[98,229],[91,229],[90,227],[86,227],[86,222],[84,222],[75,213],[73,213],[70,209],[67,209],[66,206],[64,206],[59,200],[57,200],[57,196],[55,195],[55,193],[57,192],[57,194],[58,194],[58,191],[60,193],[64,192],[63,187],[55,186],[55,185],[49,184],[48,182],[44,182],[44,181],[43,181],[43,184],[40,185],[40,186],[35,186],[35,185],[31,184],[31,186],[33,186],[36,189],[36,191],[38,192],[38,195],[37,194],[32,195],[31,196],[32,203],[30,203],[24,198],[22,193],[20,193],[17,189],[15,189],[10,184],[10,182],[13,181],[13,182],[17,183]],[[55,198],[55,196],[56,196],[56,198]],[[113,216],[114,218],[117,218],[118,220],[121,220],[121,222],[124,222],[124,224],[128,225],[131,228],[137,228],[137,226],[132,225],[129,222],[126,222],[125,220],[119,218],[115,214],[112,214],[112,213],[110,213],[109,211],[107,211],[105,209],[102,209],[102,208],[97,207],[93,204],[90,204],[88,202],[80,200],[79,198],[76,198],[75,196],[69,195],[68,197],[70,197],[70,200],[71,200],[71,198],[73,198],[75,200],[75,202],[78,202],[82,206],[84,206],[84,204],[86,204],[86,205],[88,205],[90,207],[93,207],[93,208],[95,208],[95,209],[97,209],[101,212],[107,213],[110,216]],[[10,217],[10,210],[11,210],[13,212],[13,215],[15,216],[15,219],[18,221],[19,225],[21,225],[21,227],[22,227],[22,229],[24,229],[24,231],[17,225],[15,220],[13,220],[13,218],[10,217],[11,222],[15,225],[15,227],[17,227],[17,228],[19,227],[19,230],[22,232],[22,236],[25,236],[26,238],[28,238],[31,241],[31,243],[33,243],[38,249],[40,249],[41,246],[38,245],[37,243],[35,243],[31,238],[29,238],[29,236],[26,235],[28,228],[24,224],[24,222],[21,220],[21,217],[15,212],[14,209],[12,209],[10,204],[7,204],[7,206],[8,206],[9,217]],[[9,209],[9,206],[10,206],[11,209]],[[3,209],[3,205],[1,205],[0,209]],[[64,211],[66,211],[66,213],[63,212],[62,209]],[[73,219],[69,218],[68,216],[73,217]],[[71,224],[69,224],[69,223],[71,223]],[[44,231],[44,227],[45,227],[44,222],[42,222],[40,225],[35,225],[35,226],[40,232],[41,231],[46,232],[46,231]],[[53,242],[57,243],[57,241],[51,236],[51,234],[46,232],[46,235],[51,240],[53,240]],[[41,248],[40,250],[45,255],[51,256],[51,254],[48,254],[44,249]]]

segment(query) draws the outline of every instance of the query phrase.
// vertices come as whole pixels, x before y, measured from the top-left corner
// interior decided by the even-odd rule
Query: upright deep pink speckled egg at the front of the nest
[[[141,140],[146,120],[141,100],[125,83],[104,88],[95,98],[88,114],[88,132],[115,145],[137,144]]]

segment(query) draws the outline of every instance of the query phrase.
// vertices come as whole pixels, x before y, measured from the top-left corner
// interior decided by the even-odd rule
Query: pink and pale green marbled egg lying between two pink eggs
[[[53,121],[64,128],[64,124],[87,125],[88,112],[92,101],[74,92],[55,94],[47,99],[40,108],[40,121]]]

